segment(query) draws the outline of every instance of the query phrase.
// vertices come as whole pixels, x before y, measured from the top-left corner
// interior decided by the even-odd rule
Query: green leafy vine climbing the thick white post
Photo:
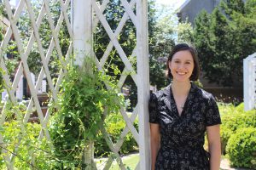
[[[115,78],[98,71],[91,59],[85,59],[82,67],[69,66],[59,99],[51,106],[60,108],[49,123],[57,167],[82,166],[84,144],[96,139],[103,111],[117,113],[120,105],[124,105],[116,84]]]

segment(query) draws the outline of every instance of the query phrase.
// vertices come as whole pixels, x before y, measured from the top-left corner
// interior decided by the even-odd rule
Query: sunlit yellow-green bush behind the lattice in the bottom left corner
[[[37,123],[26,123],[23,125],[26,129],[26,135],[21,134],[20,122],[12,120],[4,122],[1,127],[1,134],[3,135],[4,144],[1,147],[7,150],[2,152],[0,156],[0,169],[5,168],[3,156],[15,156],[15,168],[28,169],[50,169],[50,164],[47,162],[50,149],[46,139],[39,140],[38,135],[41,126]],[[15,147],[19,144],[19,148]],[[32,161],[34,156],[34,161]]]

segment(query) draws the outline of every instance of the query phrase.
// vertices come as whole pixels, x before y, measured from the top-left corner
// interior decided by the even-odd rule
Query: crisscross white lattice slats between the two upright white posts
[[[123,10],[124,13],[121,17],[118,18],[118,14],[115,15],[117,19],[114,23],[108,23],[109,16],[108,16],[108,8],[111,8],[111,6],[114,7],[114,4],[119,4],[115,6],[115,11],[118,13],[119,10]],[[106,32],[109,38],[109,42],[107,47],[103,50],[102,56],[101,53],[97,53],[95,51],[95,59],[96,64],[99,70],[102,70],[105,68],[105,65],[109,65],[109,60],[112,60],[114,57],[117,56],[116,60],[120,60],[123,63],[123,67],[119,68],[121,69],[122,73],[119,77],[119,88],[121,89],[125,85],[125,81],[128,77],[131,77],[131,82],[134,82],[134,85],[137,86],[137,69],[134,65],[136,62],[136,42],[134,42],[134,45],[131,44],[131,40],[127,38],[126,43],[129,44],[129,46],[133,46],[131,49],[131,54],[125,54],[125,42],[122,41],[123,32],[130,31],[131,27],[133,26],[137,27],[137,16],[135,14],[134,8],[136,5],[136,0],[131,0],[130,2],[127,2],[126,0],[119,0],[119,1],[112,1],[109,0],[103,0],[102,3],[96,2],[96,0],[92,0],[92,8],[94,12],[94,18],[93,18],[93,30],[95,36],[97,36],[96,26],[102,26],[103,30]],[[122,9],[119,9],[122,8]],[[114,14],[113,14],[114,15]],[[108,19],[107,19],[108,17]],[[110,16],[111,17],[111,16]],[[113,21],[113,20],[112,20]],[[127,26],[128,25],[128,26]],[[130,29],[129,29],[130,28]],[[136,31],[135,31],[136,32]],[[136,33],[135,33],[136,34]],[[127,51],[127,49],[126,49]],[[116,55],[115,55],[116,54]],[[110,59],[111,58],[111,59]],[[126,126],[123,129],[122,133],[119,136],[119,140],[116,143],[113,143],[113,141],[110,138],[110,134],[108,134],[105,127],[102,127],[101,131],[104,134],[104,139],[107,141],[108,147],[110,150],[112,150],[113,154],[108,157],[108,161],[106,163],[106,166],[104,169],[109,169],[111,167],[115,157],[115,161],[118,162],[120,169],[126,169],[124,162],[119,155],[119,150],[122,147],[122,144],[125,141],[125,136],[128,133],[131,133],[133,138],[136,140],[137,144],[139,143],[139,134],[137,132],[137,129],[133,126],[133,122],[137,118],[137,106],[135,106],[134,110],[132,111],[131,116],[128,116],[125,112],[125,108],[121,107],[120,114],[123,116]],[[104,120],[103,120],[104,121]],[[139,162],[137,163],[136,169],[139,167]]]

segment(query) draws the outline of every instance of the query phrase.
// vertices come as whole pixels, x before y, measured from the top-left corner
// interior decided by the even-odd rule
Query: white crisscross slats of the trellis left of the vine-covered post
[[[65,72],[67,72],[66,62],[68,61],[68,58],[69,58],[70,54],[72,54],[72,50],[73,50],[73,43],[72,43],[72,41],[70,41],[69,48],[67,50],[67,54],[62,54],[60,42],[59,42],[59,39],[57,36],[58,32],[61,29],[62,24],[65,22],[69,36],[71,37],[71,39],[73,37],[73,31],[71,28],[70,20],[68,20],[68,16],[67,16],[67,7],[70,6],[70,1],[69,0],[67,0],[65,2],[60,1],[61,14],[58,16],[58,21],[57,21],[56,25],[54,24],[54,20],[52,19],[53,16],[50,13],[49,1],[43,1],[41,3],[42,3],[42,7],[39,11],[38,17],[36,18],[34,11],[32,10],[32,4],[30,1],[20,0],[20,3],[15,8],[11,7],[11,5],[9,4],[9,1],[4,1],[4,7],[6,8],[6,11],[8,14],[9,26],[7,28],[7,31],[5,32],[3,42],[1,43],[0,64],[1,64],[1,68],[3,69],[3,71],[5,71],[3,74],[3,80],[7,87],[6,90],[8,91],[9,97],[8,97],[7,101],[5,102],[5,104],[3,105],[3,109],[1,112],[1,119],[0,119],[1,127],[3,126],[3,123],[5,122],[5,119],[7,116],[6,109],[7,109],[8,102],[11,102],[14,106],[18,105],[17,99],[15,97],[15,89],[18,87],[18,83],[20,82],[20,77],[22,77],[22,75],[24,75],[26,77],[28,88],[32,94],[32,97],[31,97],[31,99],[29,99],[29,103],[27,105],[25,116],[20,117],[15,112],[15,116],[20,117],[20,119],[21,119],[20,121],[22,122],[22,123],[20,123],[22,133],[18,136],[19,142],[18,142],[18,144],[16,144],[15,150],[13,150],[12,153],[9,153],[9,150],[2,149],[2,153],[4,153],[4,161],[6,162],[6,167],[8,169],[15,168],[14,167],[15,156],[18,155],[17,150],[19,148],[20,141],[23,138],[23,134],[26,134],[26,129],[23,125],[26,124],[26,122],[28,122],[28,119],[29,119],[30,115],[32,114],[33,109],[35,109],[38,113],[38,119],[39,119],[40,126],[41,126],[41,131],[38,134],[38,139],[42,140],[42,139],[46,138],[48,141],[50,141],[49,132],[47,129],[47,123],[49,121],[50,113],[49,113],[49,111],[46,111],[46,114],[44,116],[41,106],[39,104],[39,100],[38,100],[38,89],[41,88],[43,78],[46,77],[47,83],[49,85],[49,91],[52,94],[51,100],[52,99],[55,100],[57,98],[56,94],[59,91],[61,79],[64,76]],[[15,14],[13,14],[12,10],[15,10]],[[20,32],[20,30],[18,29],[18,26],[17,26],[17,20],[19,20],[20,15],[24,14],[24,13],[27,13],[29,15],[29,20],[31,22],[31,27],[29,28],[31,30],[31,34],[29,35],[29,40],[28,40],[27,44],[24,44],[24,42],[22,42],[22,37],[20,37],[20,34],[22,34],[23,32]],[[51,32],[51,37],[52,37],[49,42],[49,47],[47,49],[43,48],[42,42],[41,42],[42,39],[40,39],[40,35],[38,32],[39,27],[44,24],[44,23],[42,23],[44,16],[47,16],[49,27],[50,27],[50,32]],[[13,38],[14,41],[16,42],[18,52],[20,55],[20,65],[17,68],[13,82],[11,81],[12,78],[10,77],[10,75],[7,71],[7,68],[6,68],[6,65],[4,62],[4,58],[3,58],[3,56],[5,56],[4,49],[7,48],[11,38]],[[36,84],[34,84],[32,82],[32,78],[30,76],[31,71],[26,62],[28,55],[31,53],[33,44],[37,44],[38,52],[40,54],[40,58],[43,63],[43,66],[38,75],[38,80],[37,80]],[[61,67],[62,67],[61,71],[58,73],[59,77],[57,78],[55,85],[52,81],[52,77],[50,76],[50,71],[49,71],[49,66],[48,66],[49,60],[52,56],[54,49],[56,50],[57,55],[59,56],[59,59],[61,61]],[[66,59],[63,60],[62,56],[66,56]],[[8,145],[8,144],[4,143],[2,134],[0,134],[0,143],[2,144],[2,146]],[[49,142],[49,147],[54,149],[53,146],[50,144],[50,142]],[[30,154],[32,156],[32,162],[33,162],[34,161],[33,151],[31,151]],[[33,168],[33,167],[31,167],[31,168]]]

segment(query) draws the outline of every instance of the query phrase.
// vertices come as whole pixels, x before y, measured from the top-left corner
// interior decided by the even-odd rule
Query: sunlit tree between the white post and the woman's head
[[[151,3],[148,5],[148,11],[152,11],[148,15],[149,80],[151,85],[160,89],[170,82],[165,77],[166,60],[175,44],[177,18],[172,8],[156,7],[155,1]]]

